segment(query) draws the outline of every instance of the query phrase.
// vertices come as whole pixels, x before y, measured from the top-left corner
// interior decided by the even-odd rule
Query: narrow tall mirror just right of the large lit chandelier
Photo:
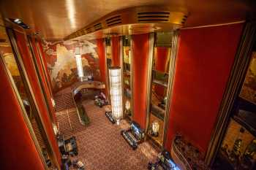
[[[131,36],[123,36],[124,118],[132,120]]]

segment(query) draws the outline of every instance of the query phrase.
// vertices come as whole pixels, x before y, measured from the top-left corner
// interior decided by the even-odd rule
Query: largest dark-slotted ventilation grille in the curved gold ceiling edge
[[[170,12],[138,12],[138,22],[168,22],[169,16]]]

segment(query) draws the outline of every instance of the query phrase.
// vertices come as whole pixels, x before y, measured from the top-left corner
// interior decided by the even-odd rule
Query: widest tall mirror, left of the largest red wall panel
[[[155,34],[148,136],[162,147],[167,109],[172,32]]]

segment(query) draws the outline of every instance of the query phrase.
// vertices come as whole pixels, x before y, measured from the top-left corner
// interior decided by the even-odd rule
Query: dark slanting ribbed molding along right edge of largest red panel
[[[214,163],[214,158],[217,155],[222,139],[227,130],[227,123],[230,117],[231,109],[234,101],[238,96],[241,85],[246,74],[246,69],[249,66],[249,61],[252,53],[252,46],[256,39],[256,24],[255,22],[246,23],[244,33],[241,36],[240,45],[236,53],[233,68],[230,73],[227,87],[222,98],[222,103],[219,108],[217,122],[213,133],[211,134],[211,142],[208,144],[205,162],[208,166]]]

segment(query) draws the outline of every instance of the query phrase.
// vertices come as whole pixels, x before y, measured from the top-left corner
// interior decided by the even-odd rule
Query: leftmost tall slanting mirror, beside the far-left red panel
[[[23,107],[23,117],[28,120],[28,128],[31,131],[32,139],[34,139],[35,145],[37,146],[39,155],[42,156],[42,160],[45,161],[45,165],[49,168],[56,168],[56,164],[53,158],[53,150],[51,150],[48,137],[45,134],[44,128],[42,127],[42,122],[39,118],[39,113],[34,104],[34,100],[31,96],[31,91],[29,90],[29,85],[26,82],[25,75],[22,72],[21,65],[18,62],[17,55],[12,53],[12,47],[15,52],[18,52],[17,46],[15,46],[15,39],[12,35],[12,31],[9,31],[12,37],[12,47],[9,42],[7,33],[4,27],[0,26],[0,56],[1,62],[7,70],[7,73],[12,80],[12,85],[17,89],[17,96],[20,99],[20,104]],[[15,53],[16,54],[16,53]]]

